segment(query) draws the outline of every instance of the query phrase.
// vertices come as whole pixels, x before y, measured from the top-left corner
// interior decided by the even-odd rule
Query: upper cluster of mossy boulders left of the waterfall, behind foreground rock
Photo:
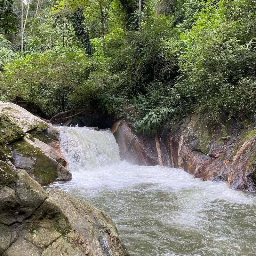
[[[0,102],[0,159],[24,169],[40,185],[71,180],[59,132],[13,103]]]

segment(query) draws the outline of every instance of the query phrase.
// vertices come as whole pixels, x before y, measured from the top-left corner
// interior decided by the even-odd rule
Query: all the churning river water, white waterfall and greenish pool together
[[[73,179],[52,186],[108,213],[131,256],[256,255],[254,194],[122,162],[111,132],[61,129]]]

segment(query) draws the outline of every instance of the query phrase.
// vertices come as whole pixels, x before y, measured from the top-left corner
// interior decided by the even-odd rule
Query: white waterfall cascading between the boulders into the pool
[[[87,127],[62,127],[61,130],[61,147],[71,172],[120,162],[119,147],[112,132]]]

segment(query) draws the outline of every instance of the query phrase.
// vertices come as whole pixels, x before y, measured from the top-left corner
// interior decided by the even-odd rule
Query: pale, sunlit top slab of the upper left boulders
[[[29,132],[34,129],[38,131],[44,131],[48,127],[48,124],[43,120],[32,115],[26,109],[21,108],[16,104],[10,102],[2,102],[0,103],[0,111],[7,115],[12,120],[12,122],[18,124],[23,132]]]

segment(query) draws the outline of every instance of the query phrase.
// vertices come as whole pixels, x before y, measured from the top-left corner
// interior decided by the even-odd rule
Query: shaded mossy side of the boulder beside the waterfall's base
[[[26,170],[41,186],[57,180],[56,168],[40,148],[20,140],[12,144],[12,155],[15,159],[15,167]]]

